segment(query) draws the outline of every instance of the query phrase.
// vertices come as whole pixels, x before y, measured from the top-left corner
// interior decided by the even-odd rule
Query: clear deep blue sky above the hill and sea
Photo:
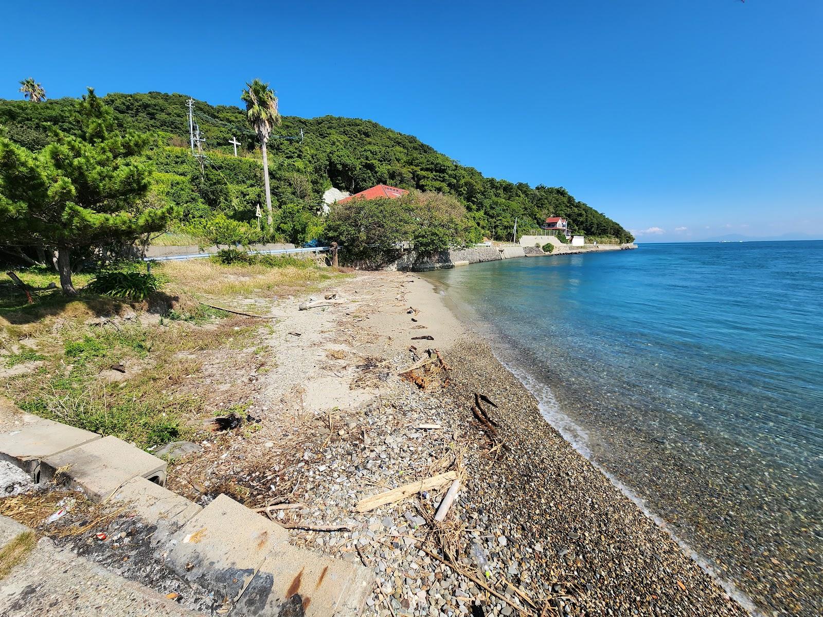
[[[13,2],[0,98],[181,92],[370,118],[644,241],[823,238],[823,2]],[[184,110],[181,110],[184,114]],[[768,225],[768,227],[766,227]]]

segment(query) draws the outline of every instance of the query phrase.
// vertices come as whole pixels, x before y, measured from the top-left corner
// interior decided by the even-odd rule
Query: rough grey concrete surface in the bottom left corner
[[[20,531],[0,517],[0,545]],[[9,535],[11,534],[11,537]],[[41,538],[0,584],[4,617],[196,617],[156,591],[128,581],[99,565]]]

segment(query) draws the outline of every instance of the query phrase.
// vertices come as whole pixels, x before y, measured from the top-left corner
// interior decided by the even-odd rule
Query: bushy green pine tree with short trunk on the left
[[[133,242],[165,228],[172,206],[146,206],[149,137],[120,133],[91,88],[77,103],[79,137],[53,130],[37,155],[0,137],[0,246],[56,249],[60,285],[72,285],[72,252]]]

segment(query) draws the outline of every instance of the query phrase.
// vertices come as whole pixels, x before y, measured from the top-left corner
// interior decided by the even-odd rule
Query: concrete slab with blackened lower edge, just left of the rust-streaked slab
[[[272,549],[288,533],[235,500],[219,495],[157,550],[179,576],[214,594],[217,605],[233,604]]]

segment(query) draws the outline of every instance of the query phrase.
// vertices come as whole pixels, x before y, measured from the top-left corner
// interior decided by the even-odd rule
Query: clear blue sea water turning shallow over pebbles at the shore
[[[546,420],[752,612],[820,614],[823,241],[426,276],[489,331]]]

